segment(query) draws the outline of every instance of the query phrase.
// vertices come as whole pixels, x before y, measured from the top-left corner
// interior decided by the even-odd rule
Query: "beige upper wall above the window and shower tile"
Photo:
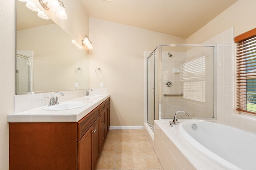
[[[203,43],[233,26],[234,36],[256,28],[255,6],[256,0],[238,0],[190,36],[187,43]]]

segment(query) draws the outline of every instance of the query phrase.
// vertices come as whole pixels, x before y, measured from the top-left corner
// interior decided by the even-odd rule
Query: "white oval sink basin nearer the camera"
[[[54,106],[44,106],[42,109],[46,111],[63,111],[69,109],[77,109],[80,107],[84,107],[87,104],[84,102],[69,102],[69,103],[60,103]]]

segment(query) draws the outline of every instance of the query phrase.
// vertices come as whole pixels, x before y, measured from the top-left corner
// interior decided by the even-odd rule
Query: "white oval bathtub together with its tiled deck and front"
[[[166,121],[155,123],[154,147],[161,164],[167,160],[164,169],[170,168],[168,162],[175,166],[173,169],[180,166],[182,169],[252,170],[256,166],[256,134],[252,132],[208,121],[184,121],[173,128]],[[193,129],[192,125],[197,128]]]

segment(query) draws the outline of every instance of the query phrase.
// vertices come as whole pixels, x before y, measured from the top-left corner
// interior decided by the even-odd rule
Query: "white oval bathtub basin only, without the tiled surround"
[[[194,130],[192,125],[197,128]],[[188,121],[180,123],[182,136],[225,169],[252,170],[256,167],[256,135],[226,125]]]

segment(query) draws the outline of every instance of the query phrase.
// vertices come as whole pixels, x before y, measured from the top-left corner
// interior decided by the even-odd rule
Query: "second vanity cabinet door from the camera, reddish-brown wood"
[[[100,138],[100,117],[94,122],[92,125],[93,130],[92,130],[92,165],[94,166],[96,163],[96,160],[98,158],[98,155],[100,153],[100,143],[99,143],[99,138]]]

